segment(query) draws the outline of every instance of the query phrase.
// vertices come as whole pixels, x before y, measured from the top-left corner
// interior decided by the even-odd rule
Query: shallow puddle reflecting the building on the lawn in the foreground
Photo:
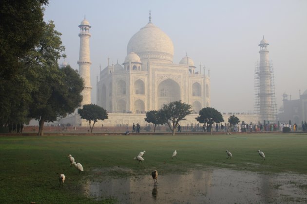
[[[307,202],[305,175],[259,174],[228,169],[192,170],[189,174],[153,178],[87,180],[83,192],[97,200],[114,197],[120,203],[269,203]]]

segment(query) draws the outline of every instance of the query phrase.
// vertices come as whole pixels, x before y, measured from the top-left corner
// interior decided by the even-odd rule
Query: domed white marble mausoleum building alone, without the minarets
[[[210,78],[195,69],[188,56],[179,64],[173,63],[173,42],[150,17],[149,23],[130,39],[124,63],[100,69],[96,103],[111,118],[114,113],[116,118],[127,120],[129,114],[133,114],[134,120],[138,120],[135,114],[140,114],[144,120],[147,111],[179,100],[191,104],[198,113],[210,106]]]

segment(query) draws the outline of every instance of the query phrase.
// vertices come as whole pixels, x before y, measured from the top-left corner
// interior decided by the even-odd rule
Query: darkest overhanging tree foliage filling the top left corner
[[[20,58],[34,48],[44,27],[42,6],[49,0],[0,1],[0,79],[14,78]]]

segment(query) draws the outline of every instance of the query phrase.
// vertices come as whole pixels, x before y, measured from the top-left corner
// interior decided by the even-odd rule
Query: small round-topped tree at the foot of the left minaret
[[[108,119],[107,111],[96,104],[83,105],[82,109],[80,108],[78,109],[78,114],[81,116],[81,119],[86,119],[87,121],[89,121],[91,133],[93,132],[94,125],[98,119],[101,120]],[[94,122],[93,125],[91,126],[92,120]]]

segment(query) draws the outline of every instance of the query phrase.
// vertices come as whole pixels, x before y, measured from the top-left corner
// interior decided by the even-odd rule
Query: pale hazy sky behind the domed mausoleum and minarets
[[[253,111],[263,35],[273,62],[277,110],[284,92],[298,99],[299,89],[307,90],[307,0],[50,0],[44,19],[54,20],[62,33],[72,68],[78,69],[78,25],[84,15],[92,26],[92,103],[99,65],[105,68],[108,56],[110,64],[123,63],[128,41],[148,23],[149,10],[153,24],[173,40],[173,63],[187,53],[197,70],[200,63],[210,68],[211,107]]]

